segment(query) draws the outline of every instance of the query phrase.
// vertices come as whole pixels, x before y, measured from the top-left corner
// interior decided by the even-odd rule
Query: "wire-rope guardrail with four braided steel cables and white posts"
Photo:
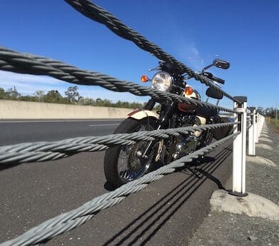
[[[110,193],[103,194],[94,198],[81,207],[66,212],[62,215],[54,217],[41,225],[38,225],[31,230],[24,232],[19,237],[14,238],[1,244],[7,245],[39,245],[46,243],[52,237],[60,235],[64,232],[82,225],[87,220],[90,220],[101,210],[121,203],[129,194],[136,193],[156,180],[163,178],[168,173],[173,173],[176,168],[180,168],[198,158],[200,155],[208,153],[215,149],[218,145],[225,143],[228,140],[233,140],[233,190],[232,195],[246,195],[245,193],[245,153],[246,153],[246,130],[248,130],[249,138],[249,154],[255,155],[255,143],[257,143],[258,135],[263,127],[263,116],[255,114],[255,109],[251,110],[250,118],[247,123],[247,98],[244,96],[233,97],[210,81],[210,79],[195,73],[191,68],[177,61],[168,53],[164,52],[156,44],[151,43],[143,36],[133,31],[125,24],[121,23],[115,16],[108,13],[96,4],[88,0],[66,0],[73,8],[81,12],[94,21],[105,24],[108,29],[111,29],[118,36],[133,41],[138,47],[145,51],[153,53],[157,58],[168,61],[176,65],[181,73],[188,73],[201,83],[206,83],[207,86],[220,91],[224,96],[234,102],[234,108],[224,108],[215,106],[202,101],[195,101],[190,98],[178,96],[166,91],[157,91],[154,88],[139,86],[136,83],[120,81],[117,78],[112,78],[101,73],[93,71],[85,71],[69,64],[55,61],[50,58],[34,56],[26,53],[11,51],[7,48],[0,48],[0,69],[5,71],[14,71],[19,73],[31,73],[36,75],[49,75],[54,78],[59,78],[62,81],[69,83],[86,84],[91,86],[101,86],[111,91],[126,91],[137,96],[151,96],[155,101],[177,101],[193,103],[196,106],[206,108],[214,108],[218,111],[225,111],[234,114],[232,123],[218,123],[211,125],[189,126],[185,128],[171,128],[164,130],[141,131],[140,133],[121,133],[106,135],[102,137],[84,137],[70,138],[66,140],[53,142],[38,142],[38,143],[22,143],[17,145],[3,146],[0,148],[0,164],[9,165],[11,163],[28,163],[39,162],[46,160],[56,160],[66,158],[80,152],[92,152],[106,150],[114,145],[133,145],[142,140],[156,140],[169,138],[170,136],[178,136],[180,134],[188,134],[195,130],[207,130],[222,128],[228,125],[233,125],[233,134],[211,143],[210,145],[201,148],[200,150],[186,155],[179,160],[175,160],[168,165],[164,165],[158,170],[144,175],[138,180],[134,180],[126,185],[121,186]],[[246,125],[251,123],[250,128]],[[252,130],[250,130],[252,129]]]

